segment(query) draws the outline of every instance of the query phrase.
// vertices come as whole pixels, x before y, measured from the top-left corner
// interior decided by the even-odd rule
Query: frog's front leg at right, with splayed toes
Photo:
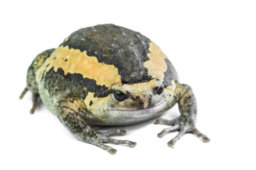
[[[163,123],[172,126],[164,129],[157,136],[163,137],[171,132],[179,131],[178,135],[167,143],[169,147],[172,147],[177,140],[188,132],[192,132],[196,136],[202,137],[204,142],[210,142],[210,139],[206,135],[200,133],[195,127],[197,106],[192,88],[189,85],[183,84],[177,84],[176,87],[173,102],[178,102],[181,115],[172,120],[162,118],[157,119],[154,122],[155,124]]]

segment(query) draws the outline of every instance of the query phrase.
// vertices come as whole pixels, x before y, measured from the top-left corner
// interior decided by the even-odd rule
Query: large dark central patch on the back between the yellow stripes
[[[151,80],[143,63],[149,60],[150,40],[132,30],[113,24],[82,28],[72,33],[60,46],[86,51],[101,63],[118,68],[123,84]]]

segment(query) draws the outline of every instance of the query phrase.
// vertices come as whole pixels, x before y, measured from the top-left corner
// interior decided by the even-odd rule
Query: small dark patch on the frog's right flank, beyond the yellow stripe
[[[171,80],[174,80],[174,82],[178,81],[178,74],[175,70],[175,68],[172,66],[169,59],[165,58],[165,63],[167,65],[167,70],[164,72],[164,85],[165,87],[171,85]]]

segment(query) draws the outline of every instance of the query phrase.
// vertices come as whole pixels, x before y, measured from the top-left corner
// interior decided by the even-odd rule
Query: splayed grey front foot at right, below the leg
[[[204,142],[210,142],[210,139],[202,134],[201,132],[199,132],[194,123],[192,123],[192,121],[190,121],[188,118],[185,118],[185,117],[182,117],[180,116],[179,118],[177,119],[172,119],[172,120],[167,120],[167,119],[162,119],[162,118],[158,118],[154,124],[159,124],[159,123],[162,123],[162,124],[166,124],[166,125],[171,125],[172,127],[170,128],[166,128],[164,129],[162,132],[160,132],[157,136],[158,137],[163,137],[165,136],[166,134],[169,134],[171,132],[176,132],[176,131],[179,131],[178,135],[175,136],[174,138],[172,138],[168,143],[167,145],[169,147],[172,147],[177,140],[179,140],[183,135],[185,135],[186,133],[188,132],[192,132],[194,133],[196,136],[198,137],[202,137],[203,141]]]

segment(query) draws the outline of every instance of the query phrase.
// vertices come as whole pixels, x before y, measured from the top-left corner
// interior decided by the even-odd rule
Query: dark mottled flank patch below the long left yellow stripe
[[[95,80],[83,78],[82,74],[67,73],[64,75],[62,68],[58,68],[57,72],[51,68],[44,74],[44,86],[52,96],[64,93],[63,98],[81,97],[85,100],[88,92],[94,93],[94,97],[98,98],[106,97],[113,92],[112,89],[108,90],[106,85],[97,85]]]

